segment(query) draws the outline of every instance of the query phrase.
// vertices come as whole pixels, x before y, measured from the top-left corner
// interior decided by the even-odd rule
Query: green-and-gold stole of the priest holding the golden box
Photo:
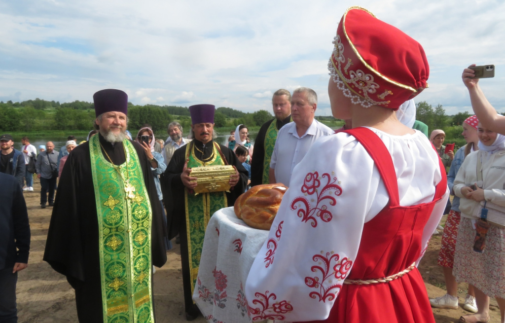
[[[194,144],[187,144],[187,168],[225,165],[216,149],[216,145],[217,144],[214,143],[214,157],[204,163],[194,155]],[[194,193],[188,193],[187,189],[184,189],[184,202],[186,209],[186,235],[188,241],[189,273],[191,276],[192,294],[196,284],[198,267],[200,266],[201,250],[204,246],[204,236],[207,224],[209,223],[212,214],[214,214],[217,210],[226,207],[228,202],[226,200],[226,192],[212,192],[195,195]]]

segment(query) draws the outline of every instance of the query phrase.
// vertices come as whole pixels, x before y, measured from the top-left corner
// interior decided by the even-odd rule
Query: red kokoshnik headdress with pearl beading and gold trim
[[[428,87],[421,44],[364,8],[347,9],[333,43],[328,69],[352,103],[397,110]]]

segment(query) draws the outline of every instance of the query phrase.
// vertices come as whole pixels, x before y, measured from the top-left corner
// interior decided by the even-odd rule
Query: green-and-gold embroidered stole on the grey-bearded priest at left
[[[126,162],[115,166],[103,155],[98,136],[89,140],[104,322],[154,322],[151,205],[137,152],[129,140],[122,144]]]

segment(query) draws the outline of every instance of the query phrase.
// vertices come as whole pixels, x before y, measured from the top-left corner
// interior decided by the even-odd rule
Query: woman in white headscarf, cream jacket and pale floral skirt
[[[505,136],[479,123],[479,150],[463,161],[454,181],[460,197],[461,222],[456,242],[453,273],[458,281],[474,286],[478,312],[460,322],[488,322],[489,296],[495,297],[501,322],[505,315],[505,213],[497,222],[487,221],[484,252],[474,251],[482,205],[505,207]],[[493,218],[493,220],[496,220]]]

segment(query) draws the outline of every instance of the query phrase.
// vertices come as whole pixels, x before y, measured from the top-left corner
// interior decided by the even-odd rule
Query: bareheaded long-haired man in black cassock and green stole
[[[275,91],[272,107],[275,118],[265,122],[256,136],[254,158],[251,161],[251,186],[269,183],[268,171],[277,133],[282,126],[291,122],[291,93],[285,89]]]

